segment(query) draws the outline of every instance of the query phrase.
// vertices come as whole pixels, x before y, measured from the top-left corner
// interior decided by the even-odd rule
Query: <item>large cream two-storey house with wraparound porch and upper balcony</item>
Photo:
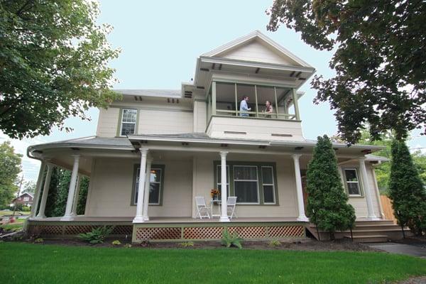
[[[30,231],[77,234],[114,224],[114,234],[133,234],[136,242],[219,239],[224,226],[245,239],[305,236],[302,179],[316,141],[302,135],[298,89],[314,72],[255,31],[197,58],[194,80],[180,89],[116,90],[123,99],[100,109],[96,136],[28,148],[42,161]],[[250,111],[240,111],[243,96]],[[271,114],[263,112],[267,100]],[[356,217],[381,220],[373,171],[380,161],[366,154],[382,147],[334,148]],[[72,170],[70,193],[65,216],[45,218],[55,166]],[[84,216],[75,214],[79,175],[90,178]],[[209,206],[210,191],[221,187],[237,197],[238,218],[229,222],[222,210],[220,218],[196,219],[195,197]]]

